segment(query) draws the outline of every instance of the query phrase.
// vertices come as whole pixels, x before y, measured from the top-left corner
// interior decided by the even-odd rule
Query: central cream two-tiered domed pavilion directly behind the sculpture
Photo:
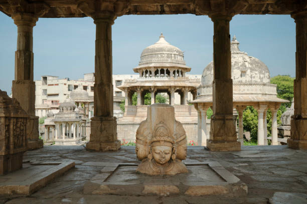
[[[200,79],[188,77],[186,73],[190,70],[184,52],[167,42],[161,33],[155,44],[142,51],[138,66],[133,68],[139,77],[117,86],[125,92],[125,112],[117,122],[118,138],[135,139],[139,123],[147,116],[144,96],[150,92],[151,104],[155,103],[157,93],[169,95],[169,103],[175,107],[176,119],[183,123],[188,139],[196,139],[197,111],[193,105],[188,105],[188,94],[195,96]],[[137,93],[137,105],[132,105],[134,92]],[[175,96],[180,97],[180,104],[175,104]]]

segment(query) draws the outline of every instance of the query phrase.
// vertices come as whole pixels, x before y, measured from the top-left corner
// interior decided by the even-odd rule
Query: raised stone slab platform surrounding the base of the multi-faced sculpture
[[[247,185],[216,161],[187,162],[186,165],[188,173],[151,176],[136,172],[137,164],[107,162],[101,173],[85,183],[83,192],[116,195],[247,195]]]

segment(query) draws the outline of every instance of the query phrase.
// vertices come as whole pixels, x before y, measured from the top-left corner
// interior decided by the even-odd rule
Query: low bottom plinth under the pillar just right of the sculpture
[[[207,141],[207,148],[210,151],[240,151],[241,143],[239,141]]]

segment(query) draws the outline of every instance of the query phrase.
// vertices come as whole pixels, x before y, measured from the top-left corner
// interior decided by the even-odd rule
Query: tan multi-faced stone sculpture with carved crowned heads
[[[181,160],[187,157],[187,135],[175,119],[174,107],[155,103],[147,108],[147,118],[136,131],[135,152],[142,162],[136,171],[149,175],[188,172]]]

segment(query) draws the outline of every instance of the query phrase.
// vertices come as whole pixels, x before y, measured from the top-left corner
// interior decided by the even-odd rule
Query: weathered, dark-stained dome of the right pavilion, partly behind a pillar
[[[259,59],[248,56],[246,52],[240,51],[236,36],[233,37],[231,48],[231,77],[233,82],[270,82],[270,73],[267,66]],[[212,84],[213,61],[203,71],[202,84]]]

